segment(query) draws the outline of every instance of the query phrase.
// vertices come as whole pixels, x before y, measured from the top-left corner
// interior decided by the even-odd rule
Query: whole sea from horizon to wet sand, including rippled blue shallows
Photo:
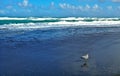
[[[46,40],[120,32],[120,18],[0,18],[0,40]]]

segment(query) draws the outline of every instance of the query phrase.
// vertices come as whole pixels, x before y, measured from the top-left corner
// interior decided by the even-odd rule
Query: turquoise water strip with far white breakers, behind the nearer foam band
[[[49,23],[49,22],[93,22],[93,21],[120,21],[120,18],[9,18],[1,17],[0,25],[18,23]]]

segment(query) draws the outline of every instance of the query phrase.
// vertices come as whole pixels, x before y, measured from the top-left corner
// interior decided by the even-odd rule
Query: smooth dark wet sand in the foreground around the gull
[[[80,57],[88,53],[85,61]],[[120,33],[0,40],[0,76],[119,76]]]

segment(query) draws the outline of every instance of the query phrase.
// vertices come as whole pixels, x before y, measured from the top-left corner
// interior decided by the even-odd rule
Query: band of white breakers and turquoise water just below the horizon
[[[0,29],[12,30],[116,26],[120,26],[120,18],[0,18]]]

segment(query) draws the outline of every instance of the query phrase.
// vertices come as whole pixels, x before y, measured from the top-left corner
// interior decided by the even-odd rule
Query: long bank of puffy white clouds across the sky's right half
[[[65,9],[65,10],[70,10],[70,11],[81,11],[81,12],[104,12],[105,10],[107,11],[118,11],[120,10],[120,6],[106,6],[106,7],[101,7],[98,4],[94,4],[94,5],[89,5],[86,4],[85,6],[82,5],[71,5],[71,4],[67,4],[67,3],[60,3],[59,7],[61,9]]]

